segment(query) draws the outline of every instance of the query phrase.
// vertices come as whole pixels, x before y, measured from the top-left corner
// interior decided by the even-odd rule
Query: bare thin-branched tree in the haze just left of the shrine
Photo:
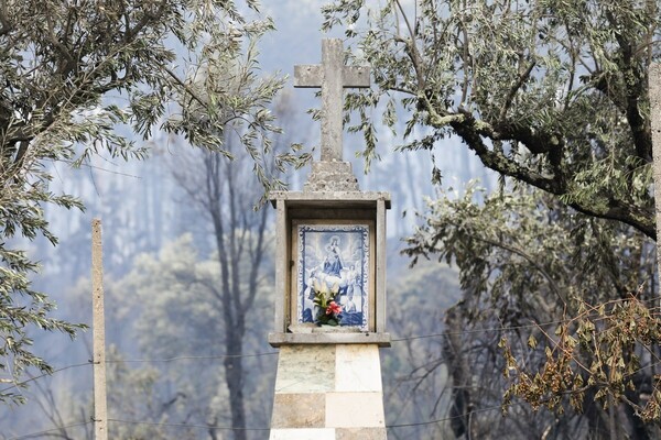
[[[226,147],[230,148],[229,143]],[[213,227],[214,246],[220,272],[218,285],[207,286],[223,317],[225,384],[235,440],[246,439],[246,377],[242,363],[246,314],[259,289],[264,260],[268,210],[252,210],[261,188],[241,179],[246,169],[214,153],[204,153],[196,183],[180,182],[197,201]],[[217,418],[216,418],[217,419]]]

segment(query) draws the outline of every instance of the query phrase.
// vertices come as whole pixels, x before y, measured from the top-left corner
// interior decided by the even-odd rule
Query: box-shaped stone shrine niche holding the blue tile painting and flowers
[[[386,336],[386,210],[387,193],[282,191],[273,195],[278,209],[275,270],[275,333],[270,342],[323,342],[337,333],[349,341],[350,332]],[[319,319],[315,295],[342,308],[337,322]],[[326,307],[328,304],[325,305]],[[314,327],[318,327],[315,329]],[[344,332],[342,331],[344,329]],[[278,333],[281,333],[278,336]],[[290,336],[283,336],[290,334]],[[299,334],[294,337],[293,334]],[[375,342],[354,338],[357,342]],[[383,341],[381,341],[383,340]],[[381,342],[379,342],[381,341]],[[349,341],[350,342],[350,341]]]

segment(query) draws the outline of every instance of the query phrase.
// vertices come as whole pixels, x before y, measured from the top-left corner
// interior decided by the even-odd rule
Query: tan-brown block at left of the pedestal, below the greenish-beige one
[[[324,428],[324,393],[275,394],[271,428]]]

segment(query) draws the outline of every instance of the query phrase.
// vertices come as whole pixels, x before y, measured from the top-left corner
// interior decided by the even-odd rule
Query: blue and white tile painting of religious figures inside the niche
[[[299,224],[299,322],[315,322],[314,286],[342,306],[340,326],[368,329],[369,224]]]

